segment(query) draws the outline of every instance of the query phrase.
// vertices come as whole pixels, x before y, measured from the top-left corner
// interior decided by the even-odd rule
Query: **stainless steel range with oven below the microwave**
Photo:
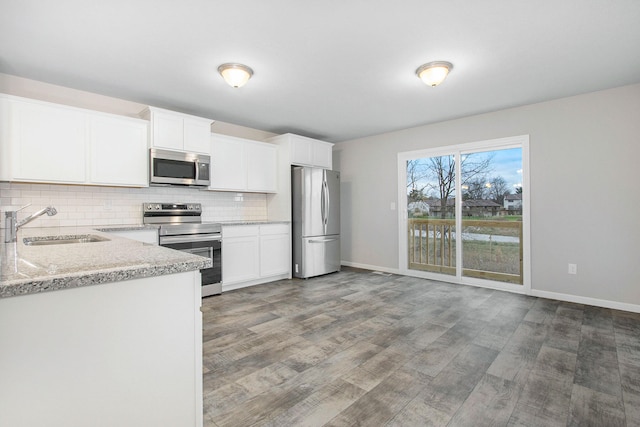
[[[222,226],[202,222],[200,203],[143,203],[142,222],[159,225],[160,246],[210,258],[200,270],[202,296],[222,293]]]

